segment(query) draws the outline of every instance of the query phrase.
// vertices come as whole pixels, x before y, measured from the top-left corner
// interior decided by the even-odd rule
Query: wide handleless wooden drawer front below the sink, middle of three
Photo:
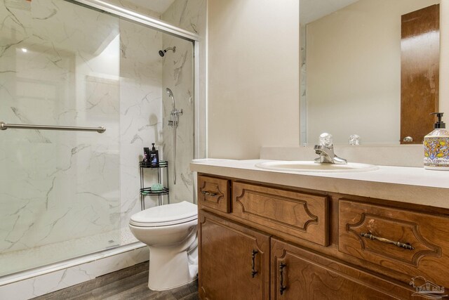
[[[291,190],[234,182],[232,216],[271,233],[328,245],[328,199]],[[259,227],[260,227],[259,226]]]

